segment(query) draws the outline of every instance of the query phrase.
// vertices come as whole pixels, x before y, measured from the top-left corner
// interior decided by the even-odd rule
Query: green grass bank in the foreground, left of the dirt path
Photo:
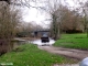
[[[0,56],[1,63],[13,63],[13,66],[52,66],[74,61],[38,50],[36,45],[25,44]]]

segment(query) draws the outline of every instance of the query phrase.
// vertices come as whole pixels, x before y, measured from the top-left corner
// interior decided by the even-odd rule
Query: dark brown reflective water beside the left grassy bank
[[[20,45],[25,44],[25,41],[1,41],[0,42],[0,55],[10,52],[14,48],[16,48]]]

